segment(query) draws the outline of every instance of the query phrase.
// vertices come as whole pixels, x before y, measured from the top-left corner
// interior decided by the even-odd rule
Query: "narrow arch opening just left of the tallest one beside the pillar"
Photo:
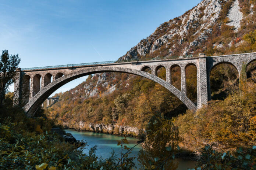
[[[171,84],[181,90],[181,67],[173,65],[170,68]]]

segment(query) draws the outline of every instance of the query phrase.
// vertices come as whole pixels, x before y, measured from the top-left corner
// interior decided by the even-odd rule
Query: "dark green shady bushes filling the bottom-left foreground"
[[[38,119],[32,122],[40,124]],[[47,120],[43,122],[47,123]],[[122,159],[121,165],[117,165],[111,157],[107,161],[98,159],[96,146],[90,149],[89,154],[83,154],[86,145],[66,143],[58,134],[43,132],[46,129],[44,125],[41,127],[38,124],[32,132],[27,131],[24,125],[30,123],[30,119],[23,119],[22,122],[11,122],[10,118],[1,120],[0,169],[128,170],[135,165],[132,162],[134,158],[128,155]]]

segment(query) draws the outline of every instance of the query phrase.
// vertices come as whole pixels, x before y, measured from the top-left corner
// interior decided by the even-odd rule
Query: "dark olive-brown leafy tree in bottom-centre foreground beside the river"
[[[156,114],[146,127],[147,137],[143,149],[139,151],[138,161],[146,170],[177,169],[174,162],[175,148],[178,146],[177,127],[163,114]]]

